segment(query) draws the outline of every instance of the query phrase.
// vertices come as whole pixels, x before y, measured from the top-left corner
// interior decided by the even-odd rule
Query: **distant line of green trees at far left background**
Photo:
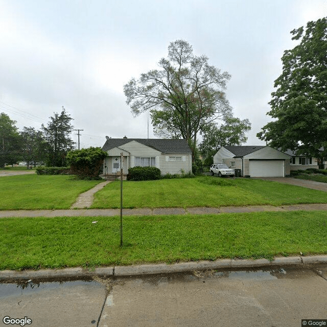
[[[32,161],[34,165],[39,162],[46,166],[65,166],[66,154],[75,144],[71,139],[72,120],[62,107],[40,130],[24,127],[18,131],[16,121],[0,113],[0,167],[19,161],[26,161],[28,168]]]

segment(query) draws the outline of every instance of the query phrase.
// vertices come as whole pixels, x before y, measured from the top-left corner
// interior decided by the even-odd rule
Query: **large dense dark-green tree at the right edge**
[[[275,80],[271,110],[275,121],[257,136],[282,150],[304,155],[327,154],[327,18],[291,31],[297,45],[282,57],[283,73]]]

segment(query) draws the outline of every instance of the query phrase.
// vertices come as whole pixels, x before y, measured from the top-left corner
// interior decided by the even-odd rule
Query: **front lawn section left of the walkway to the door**
[[[0,177],[0,210],[69,208],[80,193],[98,183],[69,175]]]

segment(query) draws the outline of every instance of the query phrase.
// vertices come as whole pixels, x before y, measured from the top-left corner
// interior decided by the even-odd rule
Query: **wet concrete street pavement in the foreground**
[[[0,312],[31,326],[301,326],[327,319],[327,265],[0,284]]]

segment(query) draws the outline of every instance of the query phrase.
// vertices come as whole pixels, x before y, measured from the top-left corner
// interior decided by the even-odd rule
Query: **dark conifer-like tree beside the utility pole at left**
[[[71,121],[73,118],[66,113],[62,107],[61,113],[54,113],[50,117],[50,122],[47,126],[42,124],[44,138],[48,144],[48,165],[49,166],[65,166],[66,154],[68,151],[73,150],[74,142],[71,139],[73,125]]]

